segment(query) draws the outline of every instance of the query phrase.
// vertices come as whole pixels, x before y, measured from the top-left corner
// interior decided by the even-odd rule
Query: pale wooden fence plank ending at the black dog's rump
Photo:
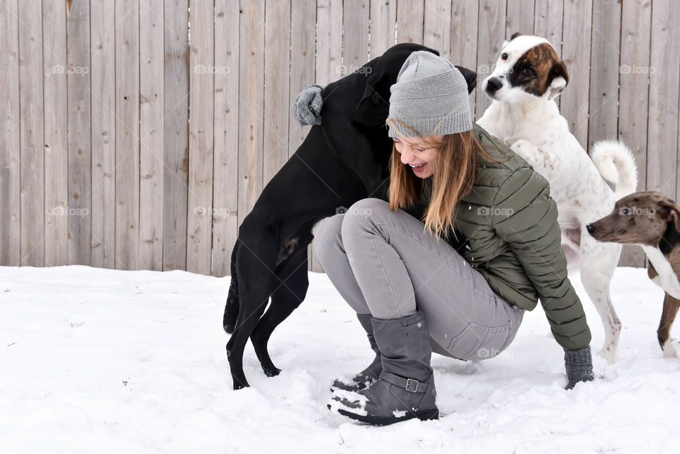
[[[239,225],[262,191],[264,5],[246,1],[239,23]],[[337,18],[335,18],[337,21]]]

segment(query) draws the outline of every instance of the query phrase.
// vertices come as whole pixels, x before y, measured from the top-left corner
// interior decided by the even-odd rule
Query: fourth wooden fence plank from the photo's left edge
[[[44,23],[44,21],[43,21]],[[91,255],[90,7],[75,2],[67,12],[69,264],[89,265]],[[45,169],[47,170],[47,169]]]

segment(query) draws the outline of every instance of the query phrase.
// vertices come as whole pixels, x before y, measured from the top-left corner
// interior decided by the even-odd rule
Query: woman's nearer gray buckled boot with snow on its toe
[[[402,319],[373,318],[375,342],[382,353],[377,382],[359,392],[336,392],[329,407],[368,424],[407,419],[438,419],[430,357],[430,335],[421,312]]]

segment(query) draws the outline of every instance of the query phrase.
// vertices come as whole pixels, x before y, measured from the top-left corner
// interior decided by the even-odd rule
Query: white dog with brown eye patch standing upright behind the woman
[[[611,303],[609,283],[622,246],[597,242],[586,225],[635,191],[638,172],[633,155],[619,142],[598,142],[591,156],[585,152],[553,101],[568,81],[567,68],[548,40],[516,33],[504,42],[494,71],[482,84],[493,101],[477,123],[550,183],[567,268],[581,271],[581,282],[604,324],[599,354],[613,363],[621,321]]]

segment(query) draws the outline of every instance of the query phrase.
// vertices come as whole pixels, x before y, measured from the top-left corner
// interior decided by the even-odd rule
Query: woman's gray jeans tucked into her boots
[[[433,351],[453,358],[497,356],[514,339],[524,310],[420,220],[377,198],[324,220],[314,251],[331,283],[358,314],[397,319],[423,312]]]

